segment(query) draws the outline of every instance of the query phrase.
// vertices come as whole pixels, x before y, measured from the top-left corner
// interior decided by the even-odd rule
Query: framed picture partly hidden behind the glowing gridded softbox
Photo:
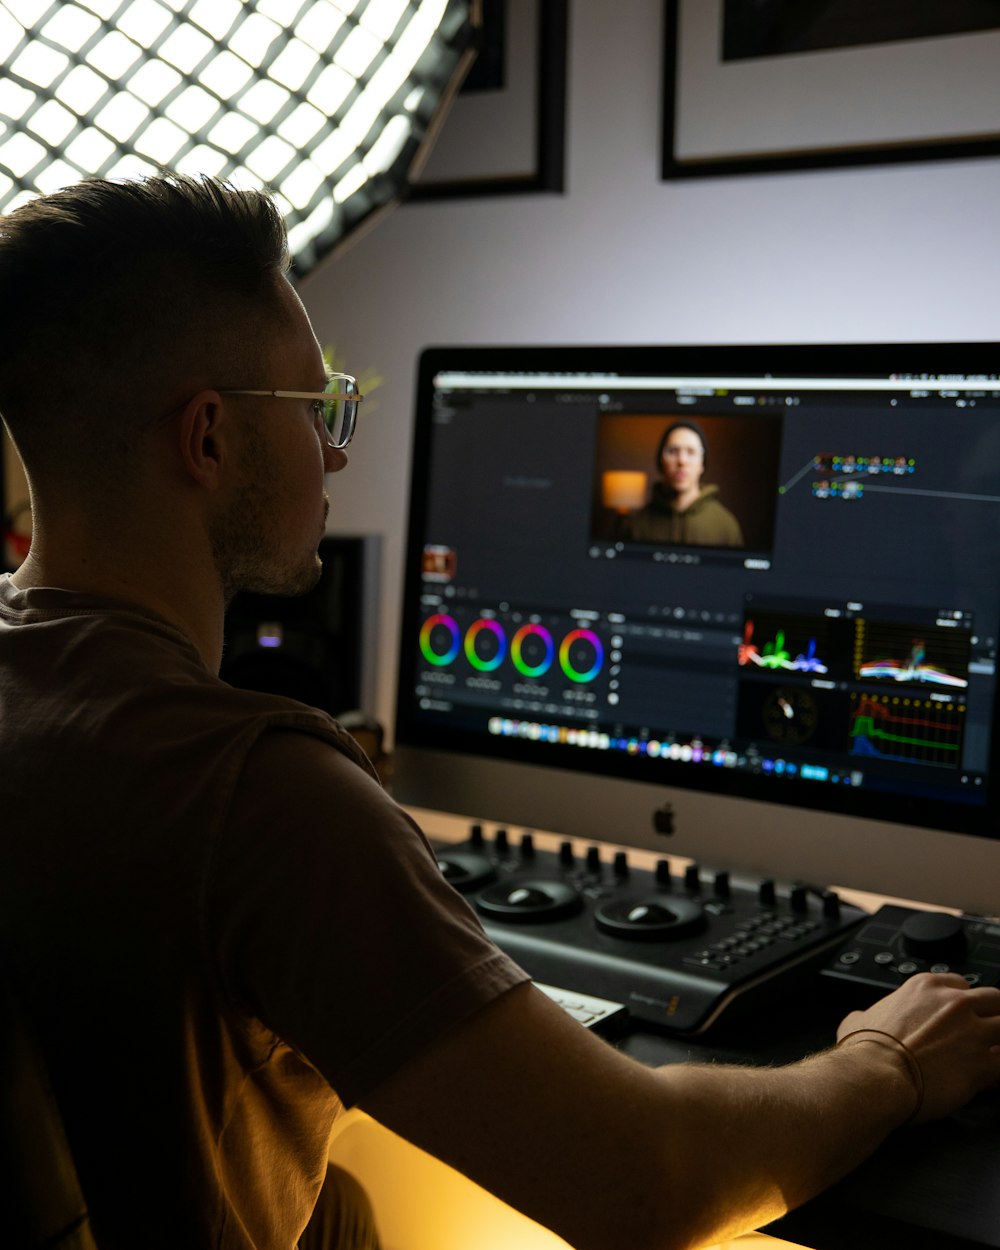
[[[568,0],[482,0],[481,46],[409,199],[561,191]]]

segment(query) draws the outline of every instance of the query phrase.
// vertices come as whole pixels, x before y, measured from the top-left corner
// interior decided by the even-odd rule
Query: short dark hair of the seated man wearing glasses
[[[211,354],[210,385],[252,385],[288,268],[271,198],[211,178],[91,179],[0,218],[0,414],[25,460],[66,428],[82,449],[99,415],[128,441],[141,385]]]

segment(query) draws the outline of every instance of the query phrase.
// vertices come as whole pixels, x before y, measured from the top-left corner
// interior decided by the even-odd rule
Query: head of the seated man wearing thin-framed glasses
[[[92,565],[114,534],[132,581],[146,551],[208,551],[226,598],[315,582],[346,455],[314,400],[271,398],[326,381],[288,264],[271,199],[210,179],[95,180],[0,219],[0,414],[32,556]]]

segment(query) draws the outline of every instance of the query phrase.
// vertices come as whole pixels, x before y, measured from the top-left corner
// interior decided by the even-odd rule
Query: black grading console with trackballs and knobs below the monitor
[[[676,1034],[708,1029],[730,1005],[756,1004],[811,972],[865,912],[832,892],[774,880],[740,882],[698,864],[682,876],[660,860],[635,868],[488,841],[438,848],[446,879],[465,894],[490,936],[531,976],[625,1004],[632,1019]]]

